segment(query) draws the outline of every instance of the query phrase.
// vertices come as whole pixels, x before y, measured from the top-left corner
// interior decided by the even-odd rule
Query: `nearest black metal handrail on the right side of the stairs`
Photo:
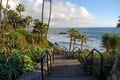
[[[97,49],[92,49],[91,52],[85,57],[85,60],[87,60],[87,58],[91,55],[91,64],[90,64],[90,73],[93,73],[93,54],[94,51],[97,52],[100,55],[100,73],[99,73],[99,79],[102,80],[103,78],[103,55],[101,52],[99,52]]]

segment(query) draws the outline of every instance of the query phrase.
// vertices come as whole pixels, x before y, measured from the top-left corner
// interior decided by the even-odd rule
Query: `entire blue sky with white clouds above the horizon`
[[[3,0],[4,4],[6,0]],[[11,9],[21,3],[23,15],[41,19],[42,0],[9,0]],[[120,0],[53,0],[50,27],[116,27]],[[49,2],[45,2],[44,22],[48,21]]]

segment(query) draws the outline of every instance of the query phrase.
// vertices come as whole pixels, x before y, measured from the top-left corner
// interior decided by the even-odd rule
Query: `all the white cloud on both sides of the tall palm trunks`
[[[18,3],[25,5],[23,15],[30,15],[34,19],[41,19],[42,0],[10,0],[10,6],[15,9]],[[47,22],[49,4],[45,2],[44,21]],[[56,1],[52,4],[51,27],[84,27],[95,23],[95,16],[83,6],[77,6],[71,2]]]

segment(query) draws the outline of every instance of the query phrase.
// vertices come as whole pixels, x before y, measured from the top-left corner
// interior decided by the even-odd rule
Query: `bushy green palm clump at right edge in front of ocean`
[[[106,48],[107,53],[112,50],[114,54],[116,50],[120,49],[120,36],[116,34],[106,33],[102,36],[103,47]]]

